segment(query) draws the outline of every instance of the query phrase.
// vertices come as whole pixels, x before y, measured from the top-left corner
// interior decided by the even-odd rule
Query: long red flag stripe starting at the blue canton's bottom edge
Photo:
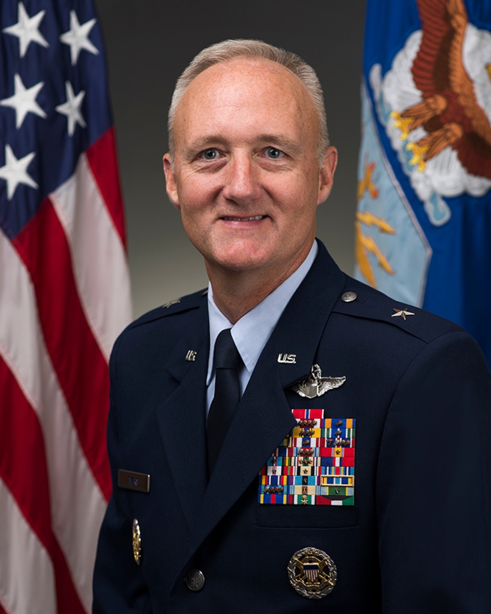
[[[107,364],[83,314],[68,242],[48,198],[12,243],[31,274],[46,346],[77,427],[80,445],[109,500]]]

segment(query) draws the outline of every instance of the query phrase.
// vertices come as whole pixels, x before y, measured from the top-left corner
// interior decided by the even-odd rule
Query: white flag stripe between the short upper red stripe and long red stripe
[[[131,321],[130,275],[121,238],[85,154],[49,198],[68,239],[85,316],[108,360],[116,337]]]

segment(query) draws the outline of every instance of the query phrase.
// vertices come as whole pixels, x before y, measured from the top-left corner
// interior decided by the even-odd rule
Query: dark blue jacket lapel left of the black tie
[[[165,454],[188,526],[195,522],[207,484],[205,394],[209,354],[206,305],[196,314],[192,330],[183,330],[165,370],[179,382],[157,406]],[[195,360],[186,360],[188,350]]]

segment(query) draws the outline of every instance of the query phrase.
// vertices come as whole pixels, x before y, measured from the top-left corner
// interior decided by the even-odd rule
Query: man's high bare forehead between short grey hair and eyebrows
[[[210,66],[191,82],[177,106],[174,131],[179,139],[197,126],[244,125],[245,117],[257,126],[294,121],[317,130],[314,103],[298,77],[270,60],[234,58]]]

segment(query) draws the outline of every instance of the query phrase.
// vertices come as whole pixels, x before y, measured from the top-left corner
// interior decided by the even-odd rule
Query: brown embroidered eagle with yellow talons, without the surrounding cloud
[[[464,47],[466,36],[476,43],[481,37],[475,29],[471,33],[462,0],[418,0],[417,5],[422,39],[411,72],[422,101],[400,113],[401,130],[423,126],[427,133],[412,143],[419,165],[452,147],[469,173],[491,179],[491,124],[485,109],[491,58],[480,65],[484,54],[476,51],[481,45],[473,45],[473,54]]]

